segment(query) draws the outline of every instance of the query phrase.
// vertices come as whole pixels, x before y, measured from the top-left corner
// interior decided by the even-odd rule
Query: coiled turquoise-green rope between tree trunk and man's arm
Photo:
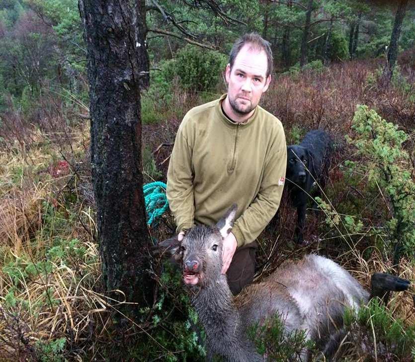
[[[166,183],[161,181],[147,183],[143,186],[144,201],[147,212],[147,225],[151,225],[157,217],[168,210]]]

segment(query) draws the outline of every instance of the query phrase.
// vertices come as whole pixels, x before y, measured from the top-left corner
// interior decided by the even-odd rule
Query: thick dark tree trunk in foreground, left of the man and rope
[[[149,305],[152,288],[141,163],[144,0],[80,0],[87,45],[92,182],[108,291]],[[117,294],[117,299],[123,299]],[[131,307],[137,310],[137,307]]]

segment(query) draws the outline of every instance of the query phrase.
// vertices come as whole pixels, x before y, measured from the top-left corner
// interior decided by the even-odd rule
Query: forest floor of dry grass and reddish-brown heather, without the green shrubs
[[[344,167],[345,160],[361,161],[345,135],[353,136],[356,106],[366,104],[409,136],[404,149],[411,156],[408,169],[415,180],[414,54],[401,56],[400,64],[389,87],[379,83],[381,60],[333,64],[280,74],[273,80],[261,105],[282,121],[287,144],[298,143],[311,129],[330,132],[336,151],[325,200],[335,210],[332,215],[360,219],[363,228],[351,234],[341,223],[334,226],[322,211],[309,212],[305,230],[309,243],[299,247],[292,241],[295,210],[284,195],[278,220],[258,238],[257,279],[287,258],[313,252],[339,263],[366,288],[375,271],[395,271],[414,281],[415,261],[404,257],[399,270],[394,269],[382,236],[368,232],[391,218],[384,194],[369,184],[367,175],[350,175]],[[154,106],[146,107],[146,112],[154,113],[153,121],[143,124],[146,182],[166,181],[181,118],[192,106],[217,98],[221,88],[215,94],[197,94],[174,87],[174,101],[155,100]],[[114,341],[121,346],[129,338],[118,336],[112,328],[115,322],[108,318],[114,307],[104,293],[96,243],[89,121],[79,117],[86,113],[79,101],[65,106],[63,99],[45,99],[37,114],[25,117],[10,111],[2,119],[0,361],[101,361],[108,359],[108,346]],[[166,214],[149,232],[162,239],[172,229],[171,215]],[[404,326],[413,326],[414,288],[393,294],[388,310]],[[143,331],[149,326],[144,321]],[[151,328],[143,331],[135,335],[149,335]],[[364,352],[353,348],[349,361],[364,361]]]

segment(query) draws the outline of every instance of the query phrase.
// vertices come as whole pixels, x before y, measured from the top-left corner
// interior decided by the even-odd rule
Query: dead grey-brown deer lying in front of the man
[[[286,332],[304,330],[330,359],[344,335],[346,307],[357,310],[371,297],[409,287],[408,280],[375,273],[369,294],[332,260],[311,254],[283,263],[234,297],[221,269],[222,241],[232,229],[236,209],[233,205],[215,227],[193,227],[181,243],[172,238],[159,244],[181,260],[183,281],[192,291],[191,303],[205,328],[208,360],[217,354],[225,361],[263,361],[247,337],[247,328],[276,313]],[[307,352],[301,360],[307,360]]]

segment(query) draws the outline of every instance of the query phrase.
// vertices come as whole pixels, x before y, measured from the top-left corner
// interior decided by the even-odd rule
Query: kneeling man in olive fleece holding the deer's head
[[[253,279],[255,239],[277,211],[285,180],[282,124],[258,106],[272,62],[270,44],[259,35],[237,40],[226,66],[228,93],[184,116],[167,171],[179,241],[195,223],[214,225],[238,204],[223,243],[222,273],[234,294]]]

